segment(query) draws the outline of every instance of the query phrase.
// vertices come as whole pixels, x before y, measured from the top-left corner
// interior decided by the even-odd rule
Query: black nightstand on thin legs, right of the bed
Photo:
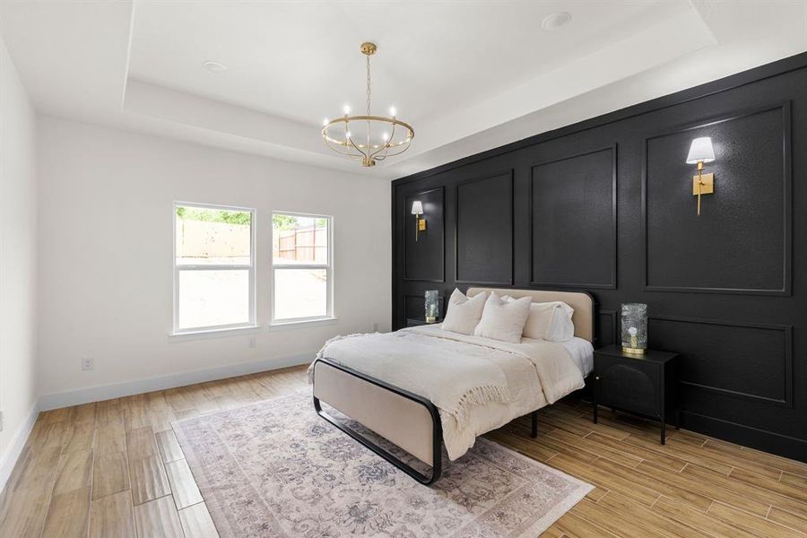
[[[646,350],[643,355],[625,353],[618,345],[594,351],[594,423],[597,404],[633,412],[661,421],[661,444],[666,438],[668,416],[681,426],[678,405],[678,360],[669,351]]]

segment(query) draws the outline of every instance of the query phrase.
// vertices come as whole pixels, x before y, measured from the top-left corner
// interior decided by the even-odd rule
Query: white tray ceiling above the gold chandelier
[[[395,178],[803,52],[807,0],[0,0],[0,32],[45,114]],[[363,107],[365,40],[416,132],[370,170],[318,134]]]

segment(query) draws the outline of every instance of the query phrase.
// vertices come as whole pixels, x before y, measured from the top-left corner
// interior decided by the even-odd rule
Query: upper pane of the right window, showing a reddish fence
[[[275,264],[328,263],[328,219],[273,214],[272,251]]]

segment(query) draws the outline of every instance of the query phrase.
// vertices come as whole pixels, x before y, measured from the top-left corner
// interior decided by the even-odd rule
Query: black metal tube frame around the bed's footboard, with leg
[[[370,450],[372,450],[378,456],[381,456],[384,459],[386,459],[386,461],[389,462],[390,464],[395,465],[395,467],[397,467],[398,469],[400,469],[404,473],[408,474],[409,476],[411,476],[416,481],[421,482],[421,484],[430,486],[431,484],[433,484],[434,482],[437,482],[439,480],[440,474],[443,472],[443,456],[442,456],[443,425],[442,425],[442,422],[440,421],[440,414],[439,414],[438,408],[435,406],[435,404],[432,404],[429,399],[424,398],[423,396],[415,395],[415,394],[413,394],[413,393],[411,393],[411,392],[409,392],[407,390],[404,390],[403,388],[399,388],[397,386],[390,385],[389,383],[386,383],[385,381],[377,379],[376,377],[368,376],[367,374],[362,374],[361,372],[359,372],[359,371],[357,371],[355,369],[351,369],[351,368],[348,368],[346,366],[336,364],[333,361],[327,360],[327,359],[324,359],[324,358],[319,358],[319,359],[314,361],[314,394],[317,394],[317,390],[316,390],[317,389],[317,362],[322,362],[324,364],[327,364],[328,366],[330,366],[330,367],[332,367],[334,369],[338,369],[340,371],[343,371],[344,373],[346,373],[348,375],[351,375],[353,377],[358,377],[362,381],[367,381],[368,383],[370,383],[372,385],[380,386],[381,388],[384,388],[384,389],[388,390],[391,393],[394,393],[394,394],[399,395],[399,396],[403,396],[404,398],[406,398],[408,400],[412,400],[412,402],[416,402],[418,404],[421,404],[423,407],[425,407],[426,410],[429,412],[429,414],[431,416],[431,424],[432,424],[432,430],[431,430],[431,439],[432,439],[432,443],[431,443],[431,458],[432,458],[431,459],[431,462],[432,462],[431,475],[426,474],[426,473],[421,473],[420,471],[414,469],[412,467],[412,465],[407,464],[406,462],[404,462],[403,460],[401,460],[397,456],[390,453],[385,448],[379,447],[378,445],[376,445],[375,443],[370,441],[369,438],[364,437],[363,435],[361,435],[360,433],[358,433],[355,430],[351,430],[351,428],[349,428],[348,426],[343,424],[343,422],[334,419],[334,417],[329,415],[327,412],[323,411],[322,404],[321,404],[319,398],[317,398],[316,395],[314,396],[314,409],[317,411],[317,414],[319,416],[321,416],[323,419],[325,419],[325,421],[330,422],[336,428],[338,428],[339,430],[342,430],[343,432],[345,432],[346,434],[351,436],[351,438],[354,438],[355,440],[359,441],[362,445],[364,445],[365,447],[368,447]],[[532,419],[531,436],[532,436],[532,438],[537,438],[538,437],[538,412],[537,411],[534,411],[534,412],[531,413],[531,419]]]

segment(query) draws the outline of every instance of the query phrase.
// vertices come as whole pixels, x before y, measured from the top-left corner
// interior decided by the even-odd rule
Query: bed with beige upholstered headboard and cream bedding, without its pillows
[[[490,291],[567,303],[574,308],[575,337],[564,343],[529,338],[503,343],[443,331],[440,325],[337,337],[309,369],[317,413],[427,485],[440,477],[443,447],[454,460],[477,436],[530,413],[535,436],[535,412],[582,388],[592,369],[594,300],[582,291],[471,288],[467,295]],[[430,469],[416,469],[334,418],[323,404]]]

